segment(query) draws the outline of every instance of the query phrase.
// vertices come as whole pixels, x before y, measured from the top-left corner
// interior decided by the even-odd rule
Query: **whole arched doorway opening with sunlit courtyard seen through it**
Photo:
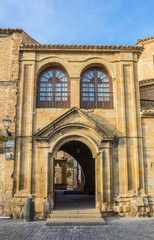
[[[95,159],[83,142],[66,142],[54,159],[54,209],[92,208],[95,208]]]

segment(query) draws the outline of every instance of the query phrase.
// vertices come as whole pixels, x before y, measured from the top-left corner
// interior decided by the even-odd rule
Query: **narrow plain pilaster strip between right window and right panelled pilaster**
[[[128,163],[127,163],[127,147],[126,147],[126,115],[125,115],[125,92],[123,80],[123,68],[120,62],[115,63],[116,80],[115,80],[115,105],[118,142],[118,162],[119,162],[119,193],[124,194],[128,191]]]

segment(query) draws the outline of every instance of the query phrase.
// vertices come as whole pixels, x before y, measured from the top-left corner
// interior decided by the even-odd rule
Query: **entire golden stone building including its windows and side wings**
[[[36,215],[47,216],[64,151],[82,167],[96,209],[153,215],[154,37],[135,46],[46,45],[0,29],[0,56],[1,119],[10,117],[15,140],[0,149],[0,214],[21,217],[35,197]],[[0,130],[6,135],[1,122]]]

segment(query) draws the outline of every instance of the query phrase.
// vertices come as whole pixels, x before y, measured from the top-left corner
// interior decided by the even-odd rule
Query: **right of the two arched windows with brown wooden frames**
[[[113,108],[112,81],[109,74],[101,68],[91,68],[81,76],[81,108]]]

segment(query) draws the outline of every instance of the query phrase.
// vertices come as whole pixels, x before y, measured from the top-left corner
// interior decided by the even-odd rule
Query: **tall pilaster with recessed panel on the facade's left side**
[[[18,93],[15,182],[16,190],[31,193],[34,61],[24,61]]]

